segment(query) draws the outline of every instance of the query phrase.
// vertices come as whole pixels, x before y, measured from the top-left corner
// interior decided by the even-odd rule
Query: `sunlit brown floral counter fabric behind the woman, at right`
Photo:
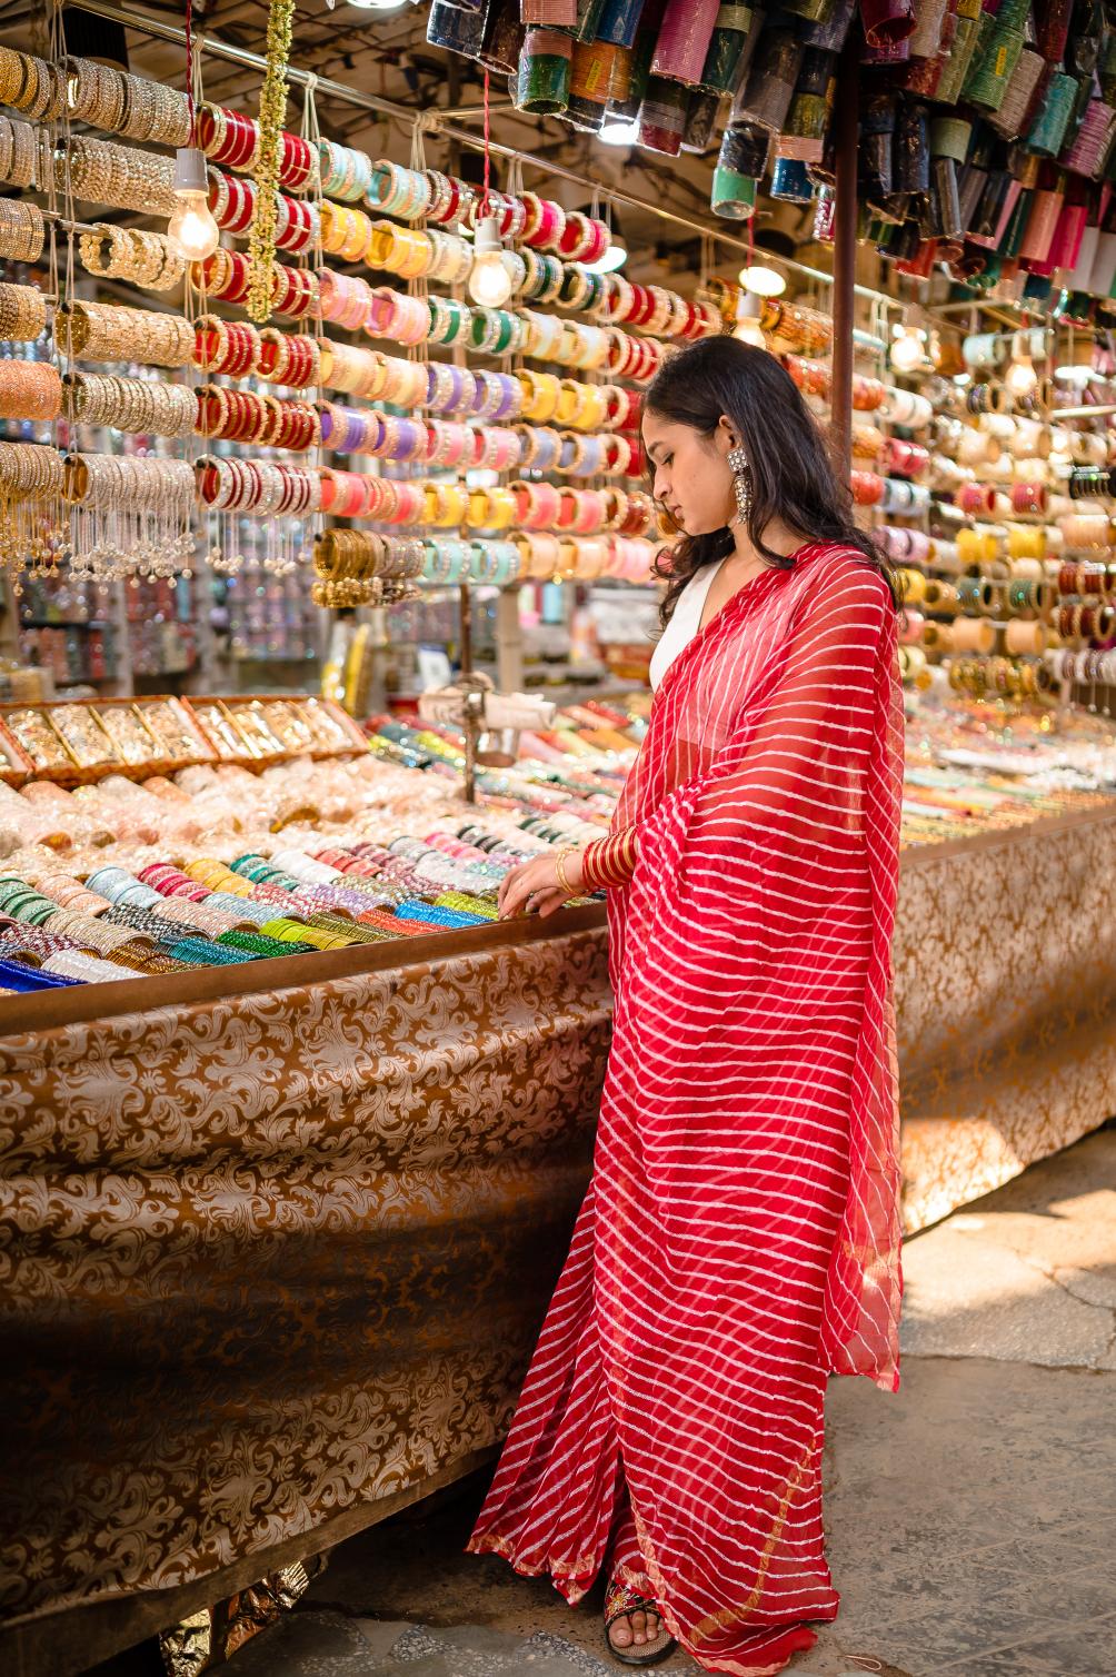
[[[903,1228],[1116,1112],[1116,813],[905,855],[895,937]]]

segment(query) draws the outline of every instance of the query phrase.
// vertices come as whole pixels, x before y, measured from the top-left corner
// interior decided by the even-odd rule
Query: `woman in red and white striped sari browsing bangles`
[[[608,887],[615,1031],[593,1182],[469,1548],[603,1565],[628,1665],[759,1677],[836,1617],[828,1373],[898,1390],[891,927],[896,609],[764,350],[648,389],[669,560],[650,724],[612,832],[503,916]]]

